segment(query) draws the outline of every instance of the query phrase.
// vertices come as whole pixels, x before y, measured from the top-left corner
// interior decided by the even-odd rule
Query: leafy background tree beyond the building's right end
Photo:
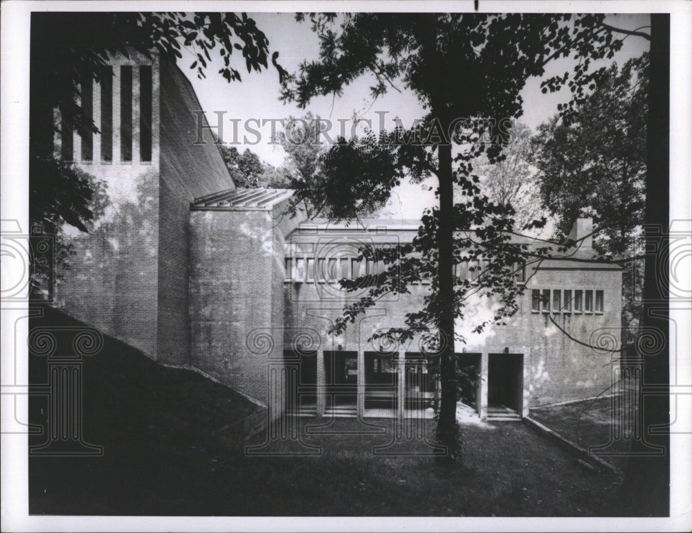
[[[612,64],[592,93],[540,125],[533,141],[540,195],[558,217],[565,237],[577,217],[589,216],[599,231],[594,249],[623,262],[623,325],[636,327],[644,282],[641,226],[646,203],[648,54],[619,69]]]

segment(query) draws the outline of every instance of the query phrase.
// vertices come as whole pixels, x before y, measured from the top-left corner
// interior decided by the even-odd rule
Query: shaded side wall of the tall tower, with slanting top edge
[[[161,64],[161,221],[158,231],[158,354],[188,364],[190,202],[235,188],[216,145],[195,145],[201,106],[180,69]],[[205,121],[206,124],[206,121]],[[206,137],[210,138],[210,134]]]

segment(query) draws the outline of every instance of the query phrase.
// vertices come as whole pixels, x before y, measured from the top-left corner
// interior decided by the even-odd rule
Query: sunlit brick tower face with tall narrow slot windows
[[[152,133],[152,161],[140,161],[139,71],[152,60],[132,51],[116,57],[113,64],[113,160],[102,161],[101,138],[93,134],[93,159],[81,160],[81,138],[72,134],[75,164],[107,186],[109,206],[95,220],[89,234],[66,226],[74,246],[70,268],[55,293],[55,305],[102,332],[156,358],[158,314],[158,127]],[[120,66],[132,69],[132,161],[120,161]],[[158,79],[158,62],[152,64]],[[93,82],[93,120],[100,124],[100,85]],[[155,92],[154,92],[155,97]],[[59,112],[55,119],[60,120]],[[152,109],[152,125],[158,125],[158,106]],[[60,154],[62,138],[55,137]]]

